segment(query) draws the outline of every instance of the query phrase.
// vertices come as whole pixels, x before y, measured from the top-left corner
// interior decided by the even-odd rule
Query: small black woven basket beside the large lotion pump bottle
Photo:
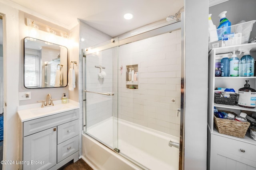
[[[234,105],[238,99],[238,94],[229,94],[229,97],[224,97],[224,93],[214,93],[214,103]]]

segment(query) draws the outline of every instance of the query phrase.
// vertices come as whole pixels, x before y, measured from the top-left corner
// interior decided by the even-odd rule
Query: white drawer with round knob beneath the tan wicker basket
[[[256,165],[256,145],[234,139],[212,135],[212,149],[251,160]],[[254,165],[254,166],[255,166]]]

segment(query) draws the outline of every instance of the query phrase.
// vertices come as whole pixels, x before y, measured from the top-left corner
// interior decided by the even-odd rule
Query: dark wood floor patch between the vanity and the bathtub
[[[79,159],[75,163],[73,160],[58,170],[93,170],[83,159]]]

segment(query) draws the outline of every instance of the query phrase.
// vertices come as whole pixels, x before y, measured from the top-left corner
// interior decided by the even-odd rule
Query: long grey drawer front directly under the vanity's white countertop
[[[79,109],[65,111],[23,122],[23,136],[28,136],[79,118]]]

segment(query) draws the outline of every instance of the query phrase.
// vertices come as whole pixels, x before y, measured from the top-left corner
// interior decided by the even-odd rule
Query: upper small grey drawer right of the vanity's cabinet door
[[[79,134],[79,119],[59,125],[57,128],[58,144]]]

